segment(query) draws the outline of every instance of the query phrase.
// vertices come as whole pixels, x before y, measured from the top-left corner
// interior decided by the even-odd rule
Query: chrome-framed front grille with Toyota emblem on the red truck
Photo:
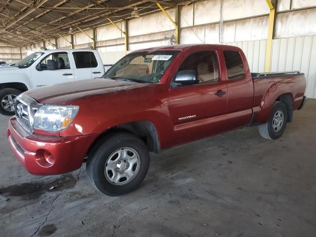
[[[24,94],[20,94],[16,99],[16,119],[29,132],[33,132],[34,116],[40,106],[35,99]]]

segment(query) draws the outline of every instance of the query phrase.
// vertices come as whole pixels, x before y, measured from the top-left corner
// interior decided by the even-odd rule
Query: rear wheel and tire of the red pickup
[[[276,101],[272,108],[268,122],[259,125],[259,133],[263,138],[275,140],[284,132],[286,123],[286,105],[281,101]]]

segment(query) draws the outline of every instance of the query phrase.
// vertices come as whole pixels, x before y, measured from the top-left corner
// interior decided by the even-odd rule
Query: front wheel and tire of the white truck
[[[15,110],[15,98],[21,94],[22,91],[14,89],[14,88],[4,88],[0,90],[0,114],[1,115],[14,115]],[[9,97],[8,97],[9,96]],[[15,97],[14,97],[15,96]],[[12,106],[5,108],[7,106],[7,102],[9,99],[12,99]]]

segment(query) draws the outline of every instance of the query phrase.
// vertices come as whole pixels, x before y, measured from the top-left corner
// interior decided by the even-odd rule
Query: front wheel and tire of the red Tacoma
[[[135,165],[132,161],[137,157]],[[86,163],[87,177],[100,193],[120,196],[135,190],[142,183],[149,163],[145,143],[130,133],[118,132],[106,136],[92,149]]]

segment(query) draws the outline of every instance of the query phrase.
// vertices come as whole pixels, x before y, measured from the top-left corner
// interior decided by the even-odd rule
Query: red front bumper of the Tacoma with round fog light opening
[[[73,137],[48,136],[26,131],[10,118],[7,138],[12,152],[20,163],[35,175],[63,174],[78,169],[97,135]],[[48,152],[54,158],[49,163],[44,158]]]

